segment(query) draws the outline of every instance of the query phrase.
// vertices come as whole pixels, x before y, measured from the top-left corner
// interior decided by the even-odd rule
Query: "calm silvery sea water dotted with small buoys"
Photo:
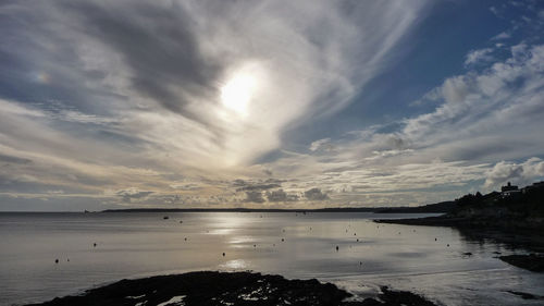
[[[194,270],[317,278],[361,297],[390,285],[445,305],[539,305],[542,301],[506,291],[544,295],[543,274],[495,258],[496,252],[522,250],[470,241],[449,228],[372,222],[429,215],[163,216],[0,213],[0,305],[77,294],[123,278]]]

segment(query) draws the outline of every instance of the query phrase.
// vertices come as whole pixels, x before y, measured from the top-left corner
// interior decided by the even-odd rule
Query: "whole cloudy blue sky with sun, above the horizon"
[[[419,206],[544,180],[543,1],[0,2],[0,210]]]

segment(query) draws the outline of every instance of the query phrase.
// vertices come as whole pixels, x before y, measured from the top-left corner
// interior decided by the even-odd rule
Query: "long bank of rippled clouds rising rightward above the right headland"
[[[543,62],[544,46],[511,46],[508,57],[432,89],[436,107],[430,112],[327,139],[334,152],[283,151],[263,167],[287,182],[298,179],[284,187],[304,193],[318,186],[346,205],[415,205],[495,188],[519,169],[489,174],[497,160],[534,160],[544,151],[535,140],[544,131]],[[540,169],[530,164],[523,171]],[[537,178],[521,173],[527,183]]]

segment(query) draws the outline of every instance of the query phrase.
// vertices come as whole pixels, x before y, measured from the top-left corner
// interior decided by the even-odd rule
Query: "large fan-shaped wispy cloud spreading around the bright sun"
[[[426,1],[10,2],[2,5],[0,35],[10,44],[0,47],[1,64],[17,73],[2,74],[2,95],[42,111],[54,101],[46,112],[53,121],[44,123],[60,134],[131,138],[144,155],[169,151],[175,166],[203,171],[244,167],[277,149],[281,133],[346,107],[400,58],[403,37],[425,8]],[[221,101],[221,88],[240,74],[258,81],[247,117]],[[89,123],[99,125],[94,135],[82,126]]]

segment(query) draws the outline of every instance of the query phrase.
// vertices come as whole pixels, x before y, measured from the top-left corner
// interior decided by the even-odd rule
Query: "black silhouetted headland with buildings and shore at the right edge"
[[[505,186],[506,187],[506,186]],[[468,194],[455,200],[454,208],[440,217],[374,220],[380,223],[453,227],[470,240],[493,240],[512,248],[536,254],[500,257],[504,261],[543,271],[544,266],[544,182],[515,193]],[[540,268],[539,268],[540,267]]]

